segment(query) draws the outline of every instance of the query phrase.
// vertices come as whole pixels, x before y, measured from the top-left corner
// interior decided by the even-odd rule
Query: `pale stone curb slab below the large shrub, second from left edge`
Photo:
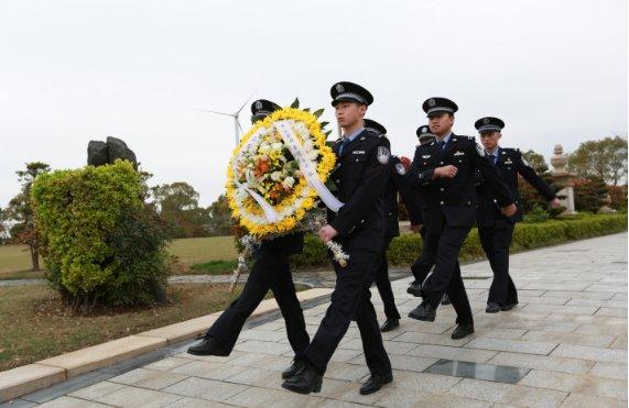
[[[65,368],[67,377],[74,377],[116,362],[130,359],[166,345],[166,340],[142,335],[129,335],[107,343],[93,345],[56,357],[42,360],[40,364]]]

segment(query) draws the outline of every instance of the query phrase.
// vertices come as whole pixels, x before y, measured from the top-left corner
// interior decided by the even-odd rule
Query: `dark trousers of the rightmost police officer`
[[[518,304],[518,290],[509,275],[509,245],[513,240],[513,224],[497,218],[492,227],[479,227],[478,235],[494,272],[487,302],[500,306]]]

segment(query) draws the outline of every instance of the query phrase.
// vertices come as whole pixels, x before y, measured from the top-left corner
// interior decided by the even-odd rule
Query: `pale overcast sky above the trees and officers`
[[[459,106],[454,131],[505,120],[503,146],[627,134],[626,0],[0,0],[0,207],[26,162],[85,165],[118,136],[151,184],[223,192],[235,111],[249,95],[325,107],[339,80],[375,96],[368,118],[412,156],[421,102]],[[241,123],[249,128],[249,104]]]

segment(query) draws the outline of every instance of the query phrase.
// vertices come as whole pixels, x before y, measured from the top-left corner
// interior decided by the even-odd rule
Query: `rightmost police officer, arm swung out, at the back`
[[[519,205],[520,201],[518,175],[521,175],[546,200],[551,201],[551,206],[560,206],[560,201],[551,187],[527,163],[520,150],[501,147],[498,144],[505,128],[502,120],[494,117],[480,118],[474,126],[480,134],[480,143],[485,147],[489,162],[496,166],[505,179],[516,199],[516,205]],[[478,195],[478,235],[494,272],[494,280],[489,288],[485,311],[497,313],[500,310],[511,310],[513,306],[518,305],[518,291],[511,276],[509,276],[509,245],[513,239],[514,223],[522,221],[522,211],[518,209],[516,214],[510,218],[502,216],[496,205],[497,199],[491,189],[485,185],[482,177],[479,177],[478,181],[476,188]]]

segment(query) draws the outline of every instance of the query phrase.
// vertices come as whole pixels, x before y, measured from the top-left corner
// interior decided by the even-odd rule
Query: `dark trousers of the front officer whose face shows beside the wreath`
[[[373,283],[378,252],[346,249],[349,261],[346,267],[334,262],[336,287],[312,343],[302,353],[303,360],[324,374],[338,343],[356,320],[367,367],[371,374],[387,375],[391,362],[382,344],[382,335],[371,304],[369,287]]]

